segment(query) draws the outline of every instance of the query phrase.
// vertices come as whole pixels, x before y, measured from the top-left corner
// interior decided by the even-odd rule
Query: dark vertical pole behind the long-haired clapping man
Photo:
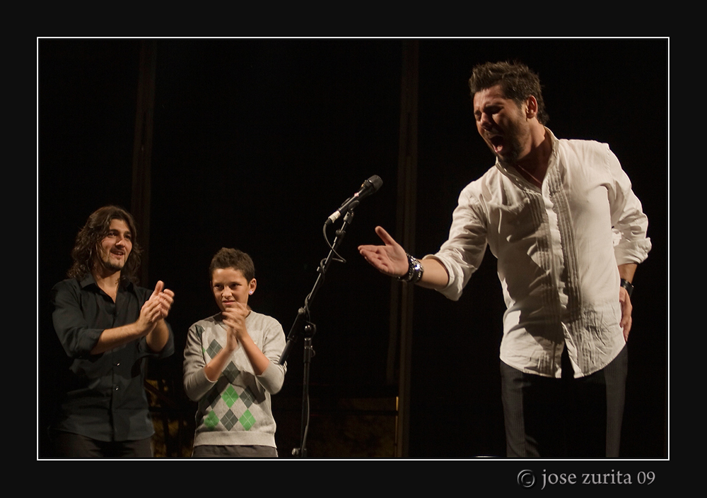
[[[144,248],[140,265],[140,284],[148,287],[150,247],[150,189],[152,132],[155,108],[156,40],[143,40],[140,47],[140,70],[133,143],[132,205],[139,240]]]

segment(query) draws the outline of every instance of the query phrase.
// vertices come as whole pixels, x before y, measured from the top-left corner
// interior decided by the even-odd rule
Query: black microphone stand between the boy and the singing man
[[[319,268],[317,268],[317,280],[312,287],[311,292],[305,297],[305,305],[298,309],[297,316],[290,332],[287,335],[287,343],[285,344],[284,350],[280,355],[279,364],[284,364],[287,360],[287,356],[292,348],[293,343],[296,343],[300,336],[304,338],[304,374],[302,381],[302,425],[300,428],[300,447],[292,450],[293,456],[298,456],[300,458],[307,458],[307,435],[309,431],[309,415],[310,415],[310,404],[309,404],[309,377],[310,377],[310,367],[312,364],[312,357],[315,356],[315,350],[312,347],[312,337],[317,333],[317,326],[310,321],[310,305],[314,300],[317,291],[324,283],[325,274],[329,265],[334,261],[334,255],[337,254],[337,248],[341,245],[341,241],[346,235],[346,227],[351,224],[351,220],[354,218],[354,208],[358,206],[358,202],[351,205],[349,211],[346,211],[344,215],[344,223],[341,224],[341,228],[337,230],[337,237],[334,238],[334,243],[329,246],[329,254],[325,259],[320,261]],[[328,223],[324,226],[325,239],[326,230]],[[336,259],[335,261],[344,262],[341,259]]]

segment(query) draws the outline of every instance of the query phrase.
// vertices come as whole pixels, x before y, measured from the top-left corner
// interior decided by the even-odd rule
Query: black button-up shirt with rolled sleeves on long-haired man
[[[170,337],[160,352],[153,352],[141,338],[100,355],[90,353],[105,329],[134,323],[151,294],[143,287],[121,285],[113,302],[92,275],[54,285],[54,330],[72,361],[53,429],[98,441],[151,437],[154,429],[144,388],[146,360],[173,354],[172,328],[168,325]]]

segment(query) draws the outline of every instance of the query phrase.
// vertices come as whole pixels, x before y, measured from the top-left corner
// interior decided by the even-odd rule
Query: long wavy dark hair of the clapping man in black
[[[98,257],[98,247],[103,238],[108,235],[110,222],[123,220],[132,233],[132,250],[128,255],[125,266],[120,272],[120,280],[124,283],[138,283],[137,270],[140,267],[142,250],[136,242],[137,232],[135,220],[130,213],[119,206],[103,206],[93,211],[86,220],[86,225],[78,231],[74,249],[71,249],[71,265],[66,276],[81,280],[93,271],[95,259]]]

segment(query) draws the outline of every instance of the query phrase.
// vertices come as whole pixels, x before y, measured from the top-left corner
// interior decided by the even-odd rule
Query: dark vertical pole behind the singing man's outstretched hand
[[[394,237],[410,254],[414,254],[415,251],[418,62],[418,42],[416,40],[405,40],[402,45],[397,211]],[[391,382],[395,378],[395,353],[399,334],[398,422],[395,437],[397,441],[395,456],[398,457],[407,457],[409,451],[413,293],[414,285],[401,284],[396,280],[392,280],[387,380]]]

